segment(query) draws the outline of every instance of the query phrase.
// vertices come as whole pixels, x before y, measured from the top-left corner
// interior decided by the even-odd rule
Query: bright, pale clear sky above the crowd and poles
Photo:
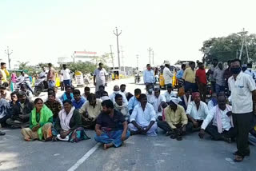
[[[116,26],[126,66],[201,60],[208,38],[246,28],[256,33],[255,1],[247,0],[0,0],[0,58],[6,46],[14,61],[57,63],[75,50],[117,57]],[[115,63],[117,64],[117,58]],[[117,66],[117,65],[116,65]]]

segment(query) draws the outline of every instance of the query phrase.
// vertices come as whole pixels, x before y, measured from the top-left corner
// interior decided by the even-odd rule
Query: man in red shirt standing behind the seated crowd
[[[207,84],[206,70],[205,70],[202,62],[198,63],[198,67],[199,68],[196,72],[196,80],[198,83],[198,89],[199,89],[199,92],[201,93],[202,101],[206,102],[206,84]]]

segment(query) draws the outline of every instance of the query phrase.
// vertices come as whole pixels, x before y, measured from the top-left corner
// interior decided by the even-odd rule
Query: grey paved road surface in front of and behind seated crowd
[[[127,90],[143,85],[134,85],[133,79],[110,82],[113,85],[126,83]],[[45,94],[42,95],[45,97]],[[94,131],[86,133],[90,140],[69,142],[26,142],[19,129],[5,129],[6,136],[0,137],[0,170],[68,170],[76,163],[76,170],[251,170],[255,171],[256,148],[251,146],[251,157],[242,163],[231,161],[236,145],[223,141],[211,141],[209,136],[200,140],[197,133],[186,136],[183,141],[171,140],[159,129],[158,137],[132,136],[124,146],[104,151],[94,141]],[[91,153],[88,151],[96,149]],[[79,159],[87,159],[82,162]],[[74,169],[70,169],[74,170]]]

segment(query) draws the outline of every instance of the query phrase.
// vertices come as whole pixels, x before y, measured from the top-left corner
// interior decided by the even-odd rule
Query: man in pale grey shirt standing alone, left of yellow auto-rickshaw
[[[106,70],[103,68],[102,62],[98,64],[98,69],[94,70],[95,92],[98,91],[100,85],[106,86]]]

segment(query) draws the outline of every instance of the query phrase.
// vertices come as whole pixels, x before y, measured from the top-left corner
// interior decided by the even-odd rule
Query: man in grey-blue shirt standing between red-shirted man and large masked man
[[[215,91],[217,95],[225,90],[225,80],[223,77],[224,70],[223,70],[223,65],[222,62],[218,62],[218,67],[216,70],[214,70],[214,80],[215,82]]]

